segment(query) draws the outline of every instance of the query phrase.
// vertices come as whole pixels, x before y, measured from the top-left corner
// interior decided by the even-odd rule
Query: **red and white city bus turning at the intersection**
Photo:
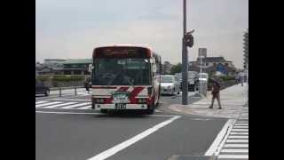
[[[95,48],[92,60],[92,109],[154,113],[161,91],[161,56],[148,46],[118,44]]]

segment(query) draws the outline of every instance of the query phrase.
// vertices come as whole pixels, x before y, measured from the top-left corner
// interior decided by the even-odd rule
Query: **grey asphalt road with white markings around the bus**
[[[190,93],[190,102],[199,98]],[[154,115],[91,110],[91,95],[36,96],[36,159],[169,159],[202,156],[228,119],[170,111],[180,95],[162,96]]]

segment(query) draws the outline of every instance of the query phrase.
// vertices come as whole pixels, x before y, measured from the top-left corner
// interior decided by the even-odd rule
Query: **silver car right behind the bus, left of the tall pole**
[[[162,75],[161,76],[161,93],[162,94],[179,94],[180,87],[179,82],[177,82],[177,76],[172,75]]]

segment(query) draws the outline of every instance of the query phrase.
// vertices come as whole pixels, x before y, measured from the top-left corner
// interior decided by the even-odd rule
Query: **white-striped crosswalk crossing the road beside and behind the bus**
[[[36,101],[36,108],[59,108],[59,109],[91,109],[90,100],[59,100],[53,99]],[[162,110],[155,109],[155,112],[162,112]]]

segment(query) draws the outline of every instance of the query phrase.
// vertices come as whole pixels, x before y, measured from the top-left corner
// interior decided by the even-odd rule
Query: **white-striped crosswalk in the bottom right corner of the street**
[[[248,120],[237,120],[233,124],[218,160],[248,159]]]

